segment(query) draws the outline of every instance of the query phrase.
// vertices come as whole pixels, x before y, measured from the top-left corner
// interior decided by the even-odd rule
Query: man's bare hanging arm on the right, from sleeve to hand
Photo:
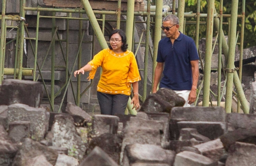
[[[198,77],[199,77],[198,62],[199,60],[190,61],[191,68],[192,68],[192,88],[188,97],[189,104],[192,104],[196,100],[196,90],[197,90],[197,83],[198,83]]]

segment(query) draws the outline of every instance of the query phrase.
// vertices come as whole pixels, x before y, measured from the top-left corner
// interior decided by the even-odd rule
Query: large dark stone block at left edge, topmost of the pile
[[[38,108],[42,100],[42,92],[40,82],[5,79],[0,91],[0,105],[22,103]]]

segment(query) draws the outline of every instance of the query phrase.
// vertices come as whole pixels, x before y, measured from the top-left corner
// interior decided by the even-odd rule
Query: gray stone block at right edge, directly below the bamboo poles
[[[227,122],[230,123],[235,129],[238,128],[251,128],[256,126],[256,115],[255,114],[239,114],[230,113],[227,114]]]

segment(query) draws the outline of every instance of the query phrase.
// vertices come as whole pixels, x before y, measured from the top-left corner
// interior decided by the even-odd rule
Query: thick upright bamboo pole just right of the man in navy
[[[214,0],[208,0],[207,7],[207,26],[206,26],[206,49],[204,62],[204,82],[203,82],[203,102],[202,106],[209,106],[210,97],[210,70],[211,70],[211,55],[212,55],[212,35],[213,35],[213,15],[214,15]]]

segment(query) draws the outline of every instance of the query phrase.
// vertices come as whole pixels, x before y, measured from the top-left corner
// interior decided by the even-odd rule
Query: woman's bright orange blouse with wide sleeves
[[[129,50],[123,53],[101,50],[88,64],[92,68],[89,79],[94,78],[99,66],[102,67],[97,91],[103,93],[130,95],[131,83],[141,80],[135,56]]]

